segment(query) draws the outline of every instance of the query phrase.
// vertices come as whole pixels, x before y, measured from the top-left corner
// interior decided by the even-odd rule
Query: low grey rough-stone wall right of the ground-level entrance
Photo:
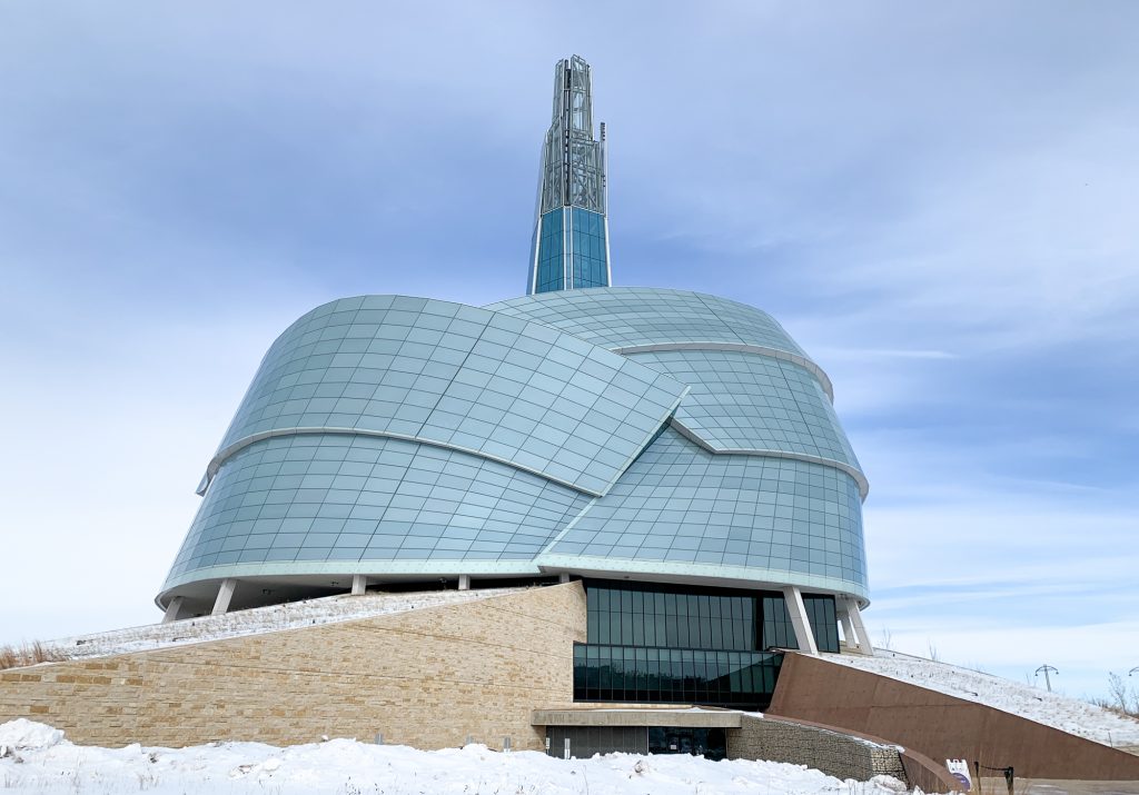
[[[744,715],[738,729],[728,729],[728,756],[806,764],[844,780],[880,774],[906,780],[895,746],[760,715]]]

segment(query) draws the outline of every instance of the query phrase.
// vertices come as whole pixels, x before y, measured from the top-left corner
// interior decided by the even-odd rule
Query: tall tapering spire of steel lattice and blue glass
[[[554,69],[554,118],[542,146],[526,293],[611,282],[605,122],[593,138],[593,87],[580,56]]]

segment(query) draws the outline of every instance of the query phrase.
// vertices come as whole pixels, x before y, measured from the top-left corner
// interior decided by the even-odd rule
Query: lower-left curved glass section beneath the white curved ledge
[[[532,560],[588,502],[468,453],[350,434],[279,436],[218,473],[170,572],[342,562]]]

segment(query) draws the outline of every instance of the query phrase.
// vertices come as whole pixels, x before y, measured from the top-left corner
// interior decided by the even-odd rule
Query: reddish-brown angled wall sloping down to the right
[[[1017,778],[1139,779],[1139,756],[935,690],[788,654],[769,714],[885,738],[933,760],[1013,767]]]

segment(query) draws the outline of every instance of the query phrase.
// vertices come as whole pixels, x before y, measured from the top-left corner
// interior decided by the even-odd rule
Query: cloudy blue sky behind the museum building
[[[614,280],[777,317],[869,475],[875,640],[1139,665],[1139,6],[0,6],[0,642],[158,617],[272,338],[518,295],[552,65]]]

